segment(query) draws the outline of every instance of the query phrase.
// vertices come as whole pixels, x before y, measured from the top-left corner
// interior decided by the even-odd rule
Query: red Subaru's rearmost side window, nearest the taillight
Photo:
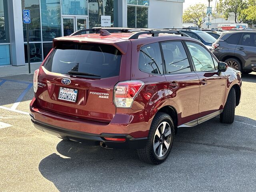
[[[144,45],[140,48],[138,65],[143,72],[163,74],[162,56],[158,43]]]

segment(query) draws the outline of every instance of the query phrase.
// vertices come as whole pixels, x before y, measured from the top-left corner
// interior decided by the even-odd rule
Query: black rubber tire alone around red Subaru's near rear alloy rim
[[[162,148],[164,148],[163,150],[161,150],[161,155],[163,155],[162,157],[158,157],[157,154],[155,153],[154,150],[154,142],[156,142],[156,130],[161,129],[161,124],[167,122],[166,126],[168,127],[167,132],[170,135],[170,137],[168,138],[169,146],[168,149],[166,150],[165,147],[166,145],[164,143],[160,144],[159,147],[162,145]],[[166,134],[167,134],[166,132]],[[163,134],[161,134],[162,137]],[[138,156],[140,158],[140,160],[149,163],[149,164],[161,164],[162,162],[164,162],[166,160],[166,158],[169,156],[170,151],[172,149],[172,144],[173,144],[173,140],[174,140],[174,124],[172,121],[172,118],[170,117],[170,115],[166,114],[166,113],[162,113],[162,112],[158,112],[153,121],[152,124],[150,126],[150,130],[148,133],[148,141],[146,143],[146,146],[142,149],[138,149]],[[164,138],[164,142],[165,142],[165,138]],[[160,140],[158,140],[158,142],[160,142]],[[156,143],[155,143],[156,144]],[[162,149],[161,148],[161,149]],[[158,148],[159,149],[159,148]],[[164,151],[166,150],[166,151]],[[164,154],[163,154],[164,151]],[[160,153],[159,153],[160,155]]]

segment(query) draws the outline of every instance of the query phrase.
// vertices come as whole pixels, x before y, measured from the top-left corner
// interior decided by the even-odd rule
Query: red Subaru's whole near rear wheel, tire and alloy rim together
[[[148,142],[138,149],[139,158],[150,164],[161,164],[172,149],[174,124],[170,115],[158,112],[154,117],[148,133]]]

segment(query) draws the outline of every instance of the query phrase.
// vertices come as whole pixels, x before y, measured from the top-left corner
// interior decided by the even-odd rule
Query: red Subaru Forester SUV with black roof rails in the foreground
[[[180,31],[102,28],[54,39],[34,72],[30,116],[59,138],[135,148],[160,164],[177,128],[232,123],[241,85],[240,71]]]

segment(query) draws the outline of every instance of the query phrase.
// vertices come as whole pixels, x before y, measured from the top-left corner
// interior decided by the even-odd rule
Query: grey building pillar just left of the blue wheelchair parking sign
[[[21,0],[9,1],[9,22],[12,65],[25,65]]]

